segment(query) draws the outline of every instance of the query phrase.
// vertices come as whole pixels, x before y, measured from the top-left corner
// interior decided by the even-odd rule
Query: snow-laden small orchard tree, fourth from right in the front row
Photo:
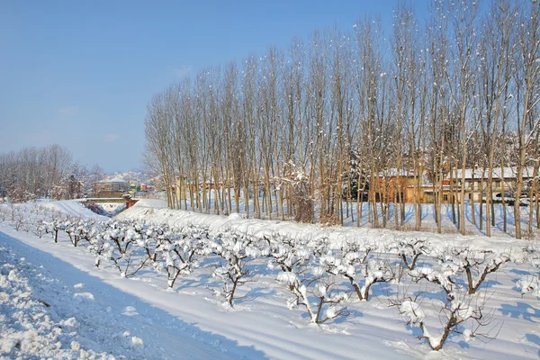
[[[157,231],[154,266],[159,272],[166,272],[167,285],[172,289],[179,275],[189,275],[199,266],[198,256],[205,253],[208,230],[194,226],[183,229]],[[234,295],[234,294],[233,294]]]

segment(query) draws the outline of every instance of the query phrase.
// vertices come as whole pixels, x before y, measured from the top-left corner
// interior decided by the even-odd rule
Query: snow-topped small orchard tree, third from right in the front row
[[[223,287],[215,291],[218,296],[223,296],[229,305],[233,305],[238,286],[253,282],[249,270],[249,261],[267,255],[269,251],[263,242],[257,238],[249,237],[229,229],[221,231],[214,239],[209,241],[210,248],[207,250],[221,258],[212,276],[223,281]]]

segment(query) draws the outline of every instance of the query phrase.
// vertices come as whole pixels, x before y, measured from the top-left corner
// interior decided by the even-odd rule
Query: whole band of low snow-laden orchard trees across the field
[[[54,243],[66,241],[86,249],[95,266],[111,266],[121,277],[132,278],[143,269],[157,271],[166,275],[168,290],[179,278],[211,271],[219,280],[214,293],[229,306],[240,298],[238,288],[243,285],[261,276],[275,279],[289,292],[287,306],[306,311],[314,324],[350,315],[349,309],[358,306],[353,301],[367,302],[374,285],[386,283],[385,293],[379,296],[389,299],[405,323],[419,328],[419,338],[434,350],[455,335],[466,340],[492,338],[496,326],[483,331],[492,321],[491,312],[485,310],[490,294],[485,283],[506,263],[527,259],[533,271],[517,286],[521,293],[540,297],[540,252],[533,244],[510,254],[500,248],[437,247],[427,238],[406,235],[379,243],[370,238],[336,241],[324,234],[248,235],[193,224],[174,228],[144,221],[99,222],[63,217],[47,208],[4,205],[0,220],[38,238],[45,232]],[[397,294],[390,297],[392,292]]]

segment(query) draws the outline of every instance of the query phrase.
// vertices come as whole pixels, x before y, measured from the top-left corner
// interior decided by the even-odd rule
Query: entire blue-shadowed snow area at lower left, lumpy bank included
[[[76,262],[76,257],[71,260]],[[240,352],[240,347],[232,351],[232,342],[4,233],[0,263],[0,355],[8,358],[203,359],[237,358],[231,356],[235,351],[255,354],[249,349]]]

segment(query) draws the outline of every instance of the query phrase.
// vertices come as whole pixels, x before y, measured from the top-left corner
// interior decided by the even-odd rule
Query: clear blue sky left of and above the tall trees
[[[203,67],[397,1],[0,0],[0,152],[53,143],[106,171],[140,167],[152,94]],[[413,2],[420,18],[427,2]]]

